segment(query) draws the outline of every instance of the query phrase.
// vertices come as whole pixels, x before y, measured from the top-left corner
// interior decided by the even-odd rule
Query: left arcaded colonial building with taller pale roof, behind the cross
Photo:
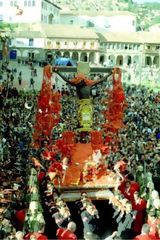
[[[98,61],[99,37],[93,29],[80,26],[27,24],[12,34],[10,49],[19,58],[65,56],[93,63]]]

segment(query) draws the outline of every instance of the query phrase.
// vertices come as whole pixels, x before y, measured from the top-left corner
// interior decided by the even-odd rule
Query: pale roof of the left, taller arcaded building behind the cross
[[[25,29],[25,30],[24,30]],[[26,33],[25,33],[26,31]],[[33,36],[47,38],[66,38],[66,39],[98,39],[93,29],[82,28],[75,25],[66,24],[22,24],[16,30],[14,36]]]

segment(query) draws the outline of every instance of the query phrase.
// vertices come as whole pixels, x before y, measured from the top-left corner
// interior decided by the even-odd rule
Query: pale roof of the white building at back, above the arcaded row
[[[87,10],[79,10],[79,11],[60,11],[60,15],[75,15],[75,16],[106,16],[106,17],[113,17],[113,16],[136,16],[133,12],[129,11],[87,11]]]

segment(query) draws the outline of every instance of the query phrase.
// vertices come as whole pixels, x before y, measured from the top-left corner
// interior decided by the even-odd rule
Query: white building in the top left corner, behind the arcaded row
[[[57,23],[60,7],[52,0],[0,0],[0,21]]]

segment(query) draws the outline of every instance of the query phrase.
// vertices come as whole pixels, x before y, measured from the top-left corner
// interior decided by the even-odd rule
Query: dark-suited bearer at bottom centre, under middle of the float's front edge
[[[88,203],[86,210],[81,212],[81,219],[84,226],[84,239],[98,239],[99,216],[97,209],[92,203]]]

